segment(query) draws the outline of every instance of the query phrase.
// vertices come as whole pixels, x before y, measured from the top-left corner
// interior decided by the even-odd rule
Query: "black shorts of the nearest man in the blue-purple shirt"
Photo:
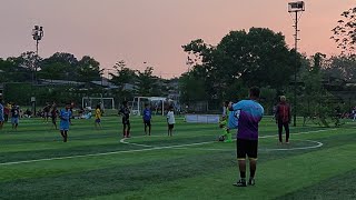
[[[236,139],[236,153],[238,160],[257,159],[258,140]]]

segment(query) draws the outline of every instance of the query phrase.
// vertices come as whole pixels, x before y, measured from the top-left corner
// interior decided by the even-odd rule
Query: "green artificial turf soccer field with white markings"
[[[118,117],[73,120],[63,143],[51,123],[23,119],[18,131],[0,131],[0,199],[355,199],[356,129],[291,128],[290,144],[278,144],[276,124],[260,124],[256,186],[238,178],[235,142],[216,142],[217,124],[178,118],[167,137],[164,118],[144,136],[134,118],[122,140]],[[356,123],[355,123],[356,126]],[[248,173],[247,173],[248,174]]]

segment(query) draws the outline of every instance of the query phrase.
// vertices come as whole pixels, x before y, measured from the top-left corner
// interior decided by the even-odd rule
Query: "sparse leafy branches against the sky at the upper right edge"
[[[342,19],[338,21],[332,31],[332,39],[337,43],[337,48],[343,50],[343,53],[349,52],[355,54],[356,51],[356,7],[350,8],[342,13]]]

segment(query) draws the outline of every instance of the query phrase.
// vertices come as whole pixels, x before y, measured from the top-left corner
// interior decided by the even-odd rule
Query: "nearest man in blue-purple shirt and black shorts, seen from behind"
[[[246,156],[249,158],[250,177],[248,184],[255,184],[255,172],[258,150],[258,123],[264,116],[264,108],[257,102],[260,90],[257,87],[249,89],[249,100],[229,103],[230,111],[239,110],[238,130],[236,136],[237,160],[240,179],[236,187],[246,187]]]

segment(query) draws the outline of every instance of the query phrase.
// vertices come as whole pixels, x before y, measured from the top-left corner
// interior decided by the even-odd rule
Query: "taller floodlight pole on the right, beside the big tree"
[[[301,12],[305,11],[305,3],[304,1],[296,1],[296,2],[289,2],[288,3],[288,12],[293,17],[294,20],[294,28],[295,28],[295,66],[294,66],[294,102],[293,102],[293,111],[294,111],[294,118],[293,118],[293,126],[297,126],[297,69],[298,69],[298,41],[300,40],[298,38],[298,22],[301,17]],[[299,14],[300,12],[300,14]],[[294,13],[294,14],[293,14]]]

